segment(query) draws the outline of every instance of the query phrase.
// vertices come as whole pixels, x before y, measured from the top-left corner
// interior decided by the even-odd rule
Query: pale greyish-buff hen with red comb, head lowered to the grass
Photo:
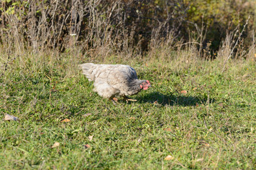
[[[81,64],[82,74],[94,81],[96,91],[103,98],[132,96],[142,89],[148,89],[148,80],[139,80],[135,70],[122,64]]]

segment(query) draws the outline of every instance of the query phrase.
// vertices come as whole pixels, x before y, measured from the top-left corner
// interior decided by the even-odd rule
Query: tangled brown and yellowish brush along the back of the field
[[[1,2],[1,44],[18,50],[56,49],[76,43],[89,55],[146,52],[175,42],[210,44],[215,52],[227,33],[242,30],[252,44],[255,1],[18,1]]]

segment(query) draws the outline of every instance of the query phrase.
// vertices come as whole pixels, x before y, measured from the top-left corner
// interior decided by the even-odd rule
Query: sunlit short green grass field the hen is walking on
[[[255,169],[254,63],[221,73],[217,60],[125,62],[152,87],[117,106],[64,59],[10,65],[0,77],[0,169]]]

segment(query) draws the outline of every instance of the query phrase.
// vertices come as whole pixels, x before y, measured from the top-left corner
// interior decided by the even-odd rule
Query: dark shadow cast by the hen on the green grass
[[[137,98],[138,103],[157,103],[161,106],[197,106],[200,104],[214,103],[214,98],[208,98],[208,96],[175,96],[175,95],[166,95],[159,92],[152,92],[146,94],[145,96]]]

